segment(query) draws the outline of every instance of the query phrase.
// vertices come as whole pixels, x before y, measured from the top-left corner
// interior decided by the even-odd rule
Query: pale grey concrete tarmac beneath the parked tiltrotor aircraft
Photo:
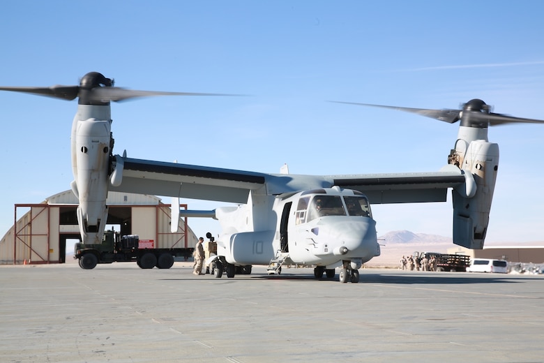
[[[542,275],[191,265],[1,266],[1,362],[544,361]]]

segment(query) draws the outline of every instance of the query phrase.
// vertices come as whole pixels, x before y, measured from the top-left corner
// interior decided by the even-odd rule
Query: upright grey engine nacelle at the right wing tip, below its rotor
[[[458,145],[460,142],[462,140],[458,140]],[[487,140],[474,140],[466,151],[457,149],[451,156],[458,156],[455,158],[460,161],[458,166],[470,173],[476,183],[476,193],[472,198],[455,189],[452,191],[453,243],[469,249],[482,249],[497,180],[499,145]]]

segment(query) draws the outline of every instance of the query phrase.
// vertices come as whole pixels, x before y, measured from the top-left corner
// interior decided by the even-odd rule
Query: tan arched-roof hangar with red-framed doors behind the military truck
[[[72,191],[52,195],[40,204],[15,205],[14,224],[0,239],[0,265],[64,263],[66,251],[80,242],[78,200]],[[156,246],[194,248],[195,233],[181,218],[178,232],[170,232],[170,205],[153,195],[109,192],[108,229],[121,235],[138,235]],[[186,205],[181,205],[181,208]]]

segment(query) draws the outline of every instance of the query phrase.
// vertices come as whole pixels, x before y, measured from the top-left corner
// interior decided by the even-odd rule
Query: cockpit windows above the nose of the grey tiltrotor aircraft
[[[325,192],[325,191],[323,191]],[[368,199],[362,193],[353,195],[302,195],[296,207],[296,224],[324,216],[365,216],[372,218]]]

